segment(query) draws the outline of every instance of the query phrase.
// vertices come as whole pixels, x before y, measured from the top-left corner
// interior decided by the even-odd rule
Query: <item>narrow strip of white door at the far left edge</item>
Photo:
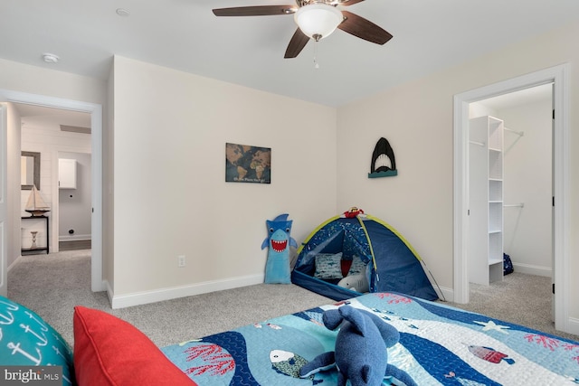
[[[8,278],[8,258],[6,241],[8,240],[8,201],[7,186],[8,186],[8,159],[6,156],[6,104],[0,103],[0,295],[6,297],[8,295],[8,286],[6,280]]]

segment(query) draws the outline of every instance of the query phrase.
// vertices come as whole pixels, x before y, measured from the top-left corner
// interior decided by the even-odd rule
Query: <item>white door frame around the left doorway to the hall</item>
[[[79,100],[61,99],[7,89],[0,89],[0,100],[43,106],[46,108],[62,108],[90,114],[90,144],[92,152],[90,289],[93,292],[104,291],[106,286],[102,279],[102,106]],[[52,233],[54,234],[55,232]],[[4,263],[5,262],[3,262],[3,264]]]

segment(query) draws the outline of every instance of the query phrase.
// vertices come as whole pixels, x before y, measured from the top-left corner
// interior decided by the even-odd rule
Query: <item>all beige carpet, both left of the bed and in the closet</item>
[[[90,249],[19,259],[8,273],[8,297],[41,315],[70,344],[73,307],[82,305],[136,325],[158,346],[334,302],[294,285],[261,284],[113,310],[105,292],[90,291]],[[489,287],[472,285],[470,298],[469,305],[453,306],[579,339],[553,328],[548,278],[508,275]]]

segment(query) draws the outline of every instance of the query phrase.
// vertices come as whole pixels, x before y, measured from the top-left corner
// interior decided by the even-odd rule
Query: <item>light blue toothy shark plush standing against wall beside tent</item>
[[[270,247],[265,265],[265,282],[268,284],[290,284],[289,247],[298,248],[298,243],[291,236],[291,220],[288,214],[280,214],[273,220],[265,221],[268,237],[261,243],[261,249]]]

